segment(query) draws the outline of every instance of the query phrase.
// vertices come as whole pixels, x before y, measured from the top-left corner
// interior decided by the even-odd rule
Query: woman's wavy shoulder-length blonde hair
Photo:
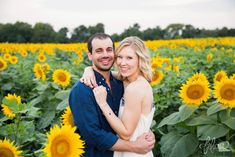
[[[148,49],[145,46],[144,42],[136,37],[130,36],[123,39],[120,42],[120,45],[117,47],[115,51],[115,56],[124,48],[130,46],[138,56],[139,59],[139,69],[143,77],[148,81],[151,82],[152,80],[152,69],[151,69],[151,60],[148,54]],[[122,78],[122,77],[120,77]]]

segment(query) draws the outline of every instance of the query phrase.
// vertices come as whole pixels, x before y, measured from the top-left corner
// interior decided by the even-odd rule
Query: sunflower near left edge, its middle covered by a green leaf
[[[16,101],[17,104],[21,103],[21,97],[17,96],[16,94],[8,94],[7,96],[5,96],[5,98],[7,100]],[[16,116],[7,105],[2,104],[1,106],[2,106],[2,112],[4,115],[6,115],[9,118],[14,118]]]

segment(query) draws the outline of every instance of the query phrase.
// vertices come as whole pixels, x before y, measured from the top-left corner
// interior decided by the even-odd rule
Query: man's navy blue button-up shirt
[[[95,77],[98,85],[106,87],[107,102],[117,115],[123,96],[123,83],[110,73],[110,89],[101,74],[95,71]],[[96,103],[92,89],[78,81],[70,92],[69,105],[77,133],[85,141],[83,156],[112,157],[113,152],[110,151],[110,148],[117,142],[118,137]]]

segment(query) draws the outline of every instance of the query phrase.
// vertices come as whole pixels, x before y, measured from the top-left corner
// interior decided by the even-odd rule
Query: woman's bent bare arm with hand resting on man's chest
[[[107,92],[105,87],[98,86],[93,90],[96,101],[108,123],[125,140],[129,140],[140,118],[142,93],[139,91],[134,86],[128,86],[125,89],[125,108],[121,119],[119,119],[106,102]]]

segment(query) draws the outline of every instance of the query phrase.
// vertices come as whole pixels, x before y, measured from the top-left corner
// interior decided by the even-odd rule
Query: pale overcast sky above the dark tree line
[[[235,28],[235,0],[0,0],[0,23],[49,23],[58,31],[97,23],[108,34],[138,23],[141,30],[172,23]]]

